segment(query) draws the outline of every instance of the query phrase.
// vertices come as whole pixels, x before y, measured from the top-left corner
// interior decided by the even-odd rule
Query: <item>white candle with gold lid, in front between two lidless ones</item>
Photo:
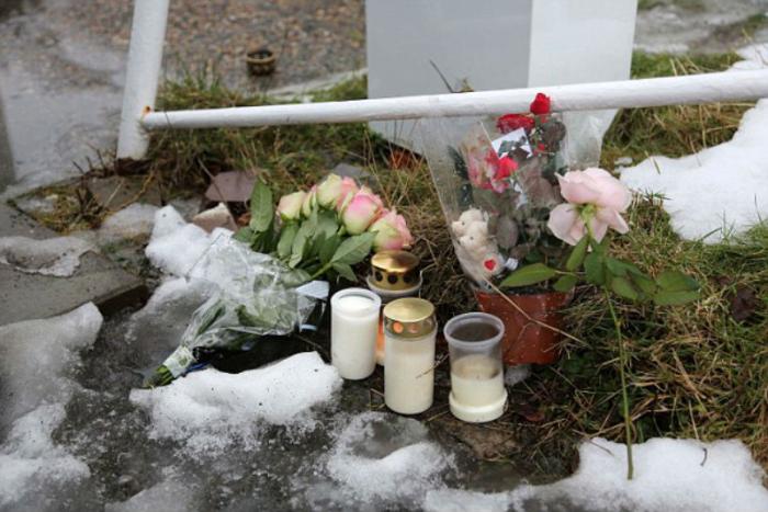
[[[417,414],[432,405],[434,306],[416,297],[384,307],[384,401],[395,412]]]

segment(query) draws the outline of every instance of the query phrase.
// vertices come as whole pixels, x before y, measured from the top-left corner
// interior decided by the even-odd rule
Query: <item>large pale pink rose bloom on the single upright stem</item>
[[[547,227],[561,240],[575,246],[587,232],[580,205],[594,205],[595,214],[589,219],[589,227],[595,240],[600,241],[608,228],[624,234],[630,230],[621,214],[632,202],[632,194],[619,180],[608,171],[590,168],[584,171],[569,171],[557,175],[560,193],[568,201],[557,205],[550,213]]]

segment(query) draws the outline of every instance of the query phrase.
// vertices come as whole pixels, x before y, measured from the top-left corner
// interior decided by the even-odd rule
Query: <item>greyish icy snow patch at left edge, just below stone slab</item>
[[[44,403],[66,402],[79,351],[91,346],[103,318],[88,303],[66,315],[0,327],[0,426]]]

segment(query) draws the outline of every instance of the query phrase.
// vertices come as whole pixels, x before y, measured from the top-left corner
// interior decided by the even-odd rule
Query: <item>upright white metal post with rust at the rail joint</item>
[[[143,158],[148,140],[142,116],[155,109],[170,0],[136,0],[120,116],[117,158]]]

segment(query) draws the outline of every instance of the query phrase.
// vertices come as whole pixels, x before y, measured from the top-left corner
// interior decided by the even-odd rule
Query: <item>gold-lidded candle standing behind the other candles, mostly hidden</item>
[[[382,298],[382,303],[400,297],[411,297],[421,289],[419,258],[408,251],[379,251],[371,258],[368,287]],[[384,364],[384,318],[379,323],[376,363]]]

